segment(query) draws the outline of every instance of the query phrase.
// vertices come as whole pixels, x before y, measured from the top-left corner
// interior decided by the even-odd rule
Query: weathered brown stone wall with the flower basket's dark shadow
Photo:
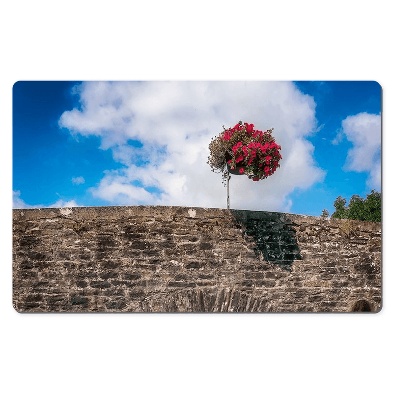
[[[381,225],[168,206],[13,210],[17,311],[378,311]]]

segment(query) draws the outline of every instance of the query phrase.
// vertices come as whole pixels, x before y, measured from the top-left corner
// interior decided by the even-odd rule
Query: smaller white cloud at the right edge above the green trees
[[[346,171],[366,172],[367,187],[381,188],[381,115],[358,113],[342,121],[342,133],[352,142],[348,150]]]

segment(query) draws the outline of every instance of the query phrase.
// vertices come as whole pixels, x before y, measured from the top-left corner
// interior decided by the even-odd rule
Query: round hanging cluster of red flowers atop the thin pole
[[[281,146],[272,137],[272,131],[273,128],[255,130],[253,124],[242,124],[241,121],[233,128],[224,128],[210,142],[208,164],[213,171],[238,168],[239,173],[247,174],[254,181],[272,175],[280,167],[282,159]]]

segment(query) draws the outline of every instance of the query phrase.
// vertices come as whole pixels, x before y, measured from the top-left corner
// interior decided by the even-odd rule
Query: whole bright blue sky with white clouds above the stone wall
[[[13,207],[226,207],[208,144],[273,127],[281,168],[232,176],[231,208],[318,216],[381,191],[377,82],[24,82],[13,86]]]

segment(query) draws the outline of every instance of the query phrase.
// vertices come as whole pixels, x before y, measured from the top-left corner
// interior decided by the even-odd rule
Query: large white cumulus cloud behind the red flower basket
[[[63,112],[59,126],[75,137],[99,137],[123,164],[90,189],[110,203],[226,207],[221,176],[206,164],[208,145],[239,120],[273,127],[283,160],[259,182],[232,175],[231,208],[289,211],[295,189],[324,179],[307,140],[318,131],[315,102],[293,83],[87,82],[74,92],[80,107]]]

